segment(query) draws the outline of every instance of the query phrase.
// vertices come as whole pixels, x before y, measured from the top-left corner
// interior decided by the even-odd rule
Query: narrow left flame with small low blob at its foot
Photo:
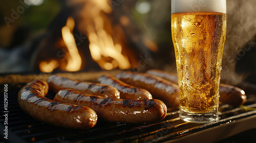
[[[75,27],[75,21],[72,17],[68,17],[66,26],[61,29],[62,38],[64,43],[67,46],[67,65],[62,70],[66,71],[78,71],[82,65],[82,59],[78,52],[74,35],[72,33]],[[41,61],[39,63],[40,71],[44,73],[51,73],[54,69],[59,67],[59,63],[57,60],[51,59],[50,61]]]

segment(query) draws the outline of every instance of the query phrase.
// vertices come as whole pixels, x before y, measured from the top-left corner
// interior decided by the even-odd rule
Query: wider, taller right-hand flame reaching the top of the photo
[[[92,18],[92,22],[88,23],[86,30],[93,60],[102,69],[130,68],[131,63],[128,57],[124,53],[122,54],[121,44],[115,43],[113,40],[111,19],[101,14],[101,12],[112,13],[110,4],[108,1],[102,0],[94,0],[90,3],[94,7],[87,7],[86,10],[89,17]]]

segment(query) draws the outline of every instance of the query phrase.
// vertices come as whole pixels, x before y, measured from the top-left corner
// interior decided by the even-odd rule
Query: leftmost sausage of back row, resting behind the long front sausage
[[[48,84],[50,89],[52,89],[55,93],[61,89],[73,89],[101,97],[120,98],[120,92],[115,87],[99,83],[81,82],[57,75],[52,75],[48,79]]]

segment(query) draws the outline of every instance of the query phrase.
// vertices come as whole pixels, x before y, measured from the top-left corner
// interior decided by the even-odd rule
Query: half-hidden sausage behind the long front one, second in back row
[[[121,99],[152,99],[151,93],[147,90],[126,84],[111,75],[103,75],[99,77],[98,81],[102,84],[113,86],[119,90]]]

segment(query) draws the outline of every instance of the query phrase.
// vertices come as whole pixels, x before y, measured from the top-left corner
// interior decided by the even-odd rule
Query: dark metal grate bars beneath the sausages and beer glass
[[[178,111],[170,111],[164,120],[153,124],[121,124],[98,121],[96,126],[88,130],[73,130],[55,127],[34,120],[24,113],[17,105],[19,86],[10,87],[8,90],[8,140],[1,142],[164,142],[172,141],[186,135],[214,129],[223,125],[256,118],[256,111],[245,111],[228,105],[220,106],[220,121],[209,124],[185,123],[180,120]],[[3,88],[2,88],[3,89]],[[3,95],[1,91],[1,95]],[[54,94],[49,92],[47,97],[53,99]],[[248,96],[245,103],[248,107],[256,107],[255,96]],[[0,126],[3,136],[4,96],[0,97]],[[254,127],[256,128],[255,123]],[[241,131],[242,132],[242,131]],[[220,138],[221,139],[221,138]],[[223,139],[223,138],[222,138]],[[211,140],[212,141],[212,140]],[[218,140],[215,140],[218,141]],[[206,141],[207,142],[207,141]]]

